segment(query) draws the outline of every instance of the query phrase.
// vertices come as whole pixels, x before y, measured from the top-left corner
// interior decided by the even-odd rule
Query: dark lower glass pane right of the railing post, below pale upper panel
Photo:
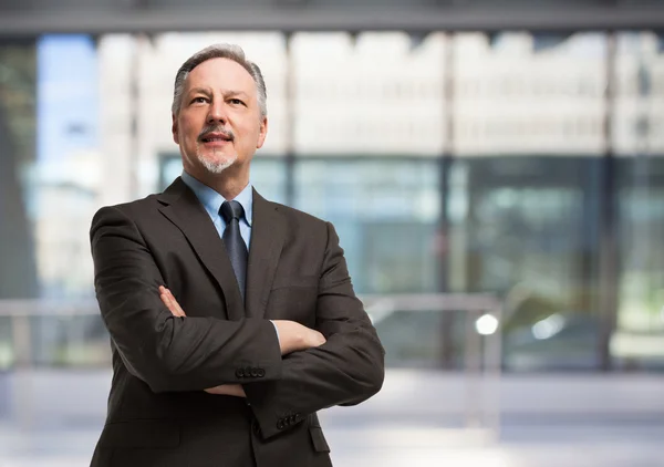
[[[508,369],[598,365],[599,162],[494,156],[453,169],[449,203],[466,207],[450,216],[450,287],[506,299]]]

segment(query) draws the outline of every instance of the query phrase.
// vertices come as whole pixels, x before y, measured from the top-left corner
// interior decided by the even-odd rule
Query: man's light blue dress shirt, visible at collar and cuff
[[[219,232],[219,237],[224,238],[226,220],[224,220],[224,217],[219,214],[219,209],[226,199],[212,188],[201,184],[184,170],[181,178],[183,181],[191,188],[191,191],[194,191],[203,207],[205,207],[205,210],[210,216],[210,219],[212,219],[212,224]],[[232,201],[232,199],[228,200]],[[235,200],[242,205],[242,209],[245,209],[245,217],[240,219],[240,235],[242,236],[245,243],[247,243],[247,251],[249,251],[249,246],[251,245],[251,216],[253,214],[253,189],[250,183],[235,197]],[[273,322],[272,324],[274,325],[274,332],[277,332],[277,339],[279,340],[277,324]]]

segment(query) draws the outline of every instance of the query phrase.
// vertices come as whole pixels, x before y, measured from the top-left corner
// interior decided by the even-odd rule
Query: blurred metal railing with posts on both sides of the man
[[[422,312],[464,314],[465,393],[464,407],[460,407],[463,426],[467,429],[480,430],[488,439],[496,438],[500,428],[502,302],[492,295],[439,293],[362,295],[361,299],[378,330],[395,313],[406,313],[408,320],[416,320],[415,316]],[[73,325],[74,319],[84,316],[92,319],[93,326],[82,330],[80,325]],[[94,320],[95,316],[98,321]],[[42,321],[64,320],[60,326],[62,333],[51,335],[52,340],[64,347],[76,349],[76,345],[87,339],[92,340],[97,347],[107,349],[107,353],[97,355],[95,361],[97,366],[110,366],[107,333],[103,328],[96,301],[0,300],[0,320],[9,320],[10,323],[9,333],[0,332],[0,349],[3,344],[6,346],[9,344],[13,355],[13,364],[10,367],[15,373],[13,391],[15,401],[12,405],[17,422],[21,426],[30,426],[34,418],[30,399],[32,394],[30,375],[39,366],[34,350],[35,344],[42,343],[35,342],[39,333],[33,329],[35,323],[39,323],[39,318]],[[495,322],[495,329],[490,326],[481,329],[479,325],[481,320]],[[45,329],[53,331],[48,324]],[[98,332],[100,329],[102,333]],[[0,331],[2,331],[1,326]],[[6,342],[2,342],[3,340]],[[390,353],[390,342],[386,344]],[[86,351],[79,346],[76,352]]]

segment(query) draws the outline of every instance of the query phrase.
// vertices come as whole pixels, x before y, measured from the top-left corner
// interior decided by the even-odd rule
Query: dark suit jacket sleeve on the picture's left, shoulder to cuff
[[[243,367],[260,369],[261,381],[281,377],[279,341],[269,321],[170,313],[159,299],[165,283],[154,257],[120,208],[100,209],[90,236],[104,323],[129,373],[154,392],[243,383],[236,374]]]

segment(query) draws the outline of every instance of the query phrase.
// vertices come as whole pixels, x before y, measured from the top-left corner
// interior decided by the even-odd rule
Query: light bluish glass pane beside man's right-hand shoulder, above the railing
[[[357,292],[438,290],[439,170],[426,159],[304,159],[295,207],[334,224]]]

